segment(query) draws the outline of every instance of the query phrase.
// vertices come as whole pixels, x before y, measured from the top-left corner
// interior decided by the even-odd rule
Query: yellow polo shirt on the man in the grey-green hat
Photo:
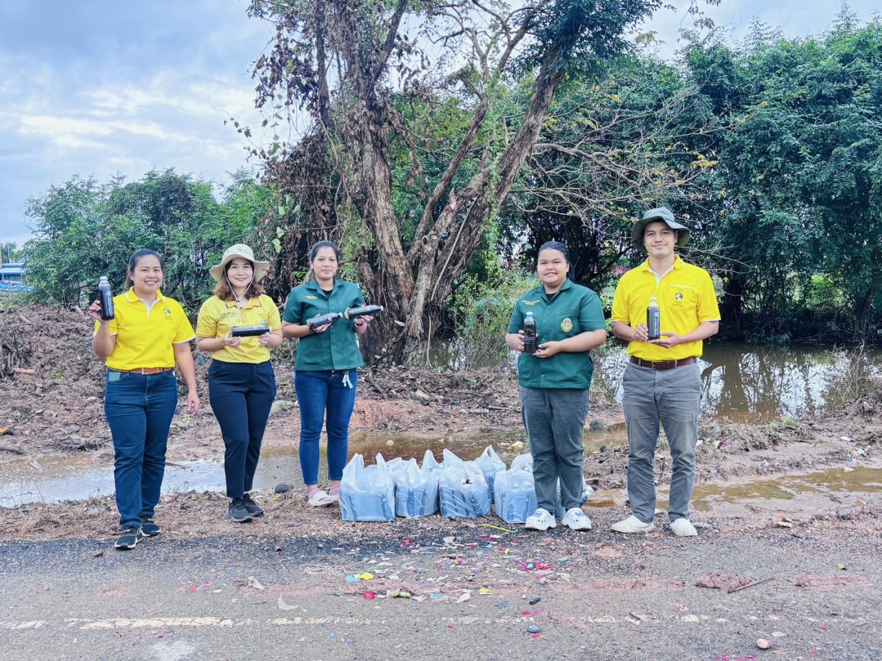
[[[625,273],[616,287],[610,319],[627,323],[632,328],[639,323],[647,323],[647,308],[653,296],[659,304],[662,333],[685,335],[703,322],[720,319],[720,308],[710,274],[695,264],[684,262],[679,255],[674,258],[674,267],[661,280],[656,279],[654,272],[649,270],[648,259]],[[669,349],[648,342],[628,343],[628,355],[643,360],[697,357],[701,355],[701,349],[701,340]]]

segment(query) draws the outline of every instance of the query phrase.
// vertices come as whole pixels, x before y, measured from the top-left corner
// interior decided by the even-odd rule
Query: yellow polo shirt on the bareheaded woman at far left
[[[114,296],[113,305],[116,316],[109,330],[116,335],[116,346],[106,361],[108,368],[174,368],[173,345],[196,337],[181,304],[161,292],[148,308],[132,287]],[[95,322],[95,333],[99,327]]]

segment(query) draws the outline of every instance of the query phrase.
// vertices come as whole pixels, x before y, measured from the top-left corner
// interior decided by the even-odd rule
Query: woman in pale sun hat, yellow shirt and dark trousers
[[[228,248],[208,271],[218,284],[196,324],[199,351],[212,353],[208,397],[226,446],[227,516],[238,524],[264,513],[249,492],[276,394],[269,350],[282,340],[279,308],[258,285],[267,265],[243,243]]]

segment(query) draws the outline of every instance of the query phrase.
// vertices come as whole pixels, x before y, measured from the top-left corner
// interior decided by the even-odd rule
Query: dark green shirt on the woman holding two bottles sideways
[[[333,291],[328,293],[318,286],[316,280],[310,280],[291,289],[282,319],[288,323],[305,324],[313,316],[345,312],[346,308],[361,305],[364,305],[362,292],[354,283],[334,279]],[[324,333],[307,335],[297,343],[295,369],[352,369],[363,364],[355,338],[355,324],[346,318],[338,319]]]

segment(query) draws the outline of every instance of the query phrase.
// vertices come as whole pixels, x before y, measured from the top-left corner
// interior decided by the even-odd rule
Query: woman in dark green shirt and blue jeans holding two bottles
[[[300,467],[308,502],[323,507],[340,500],[340,479],[346,465],[349,418],[355,406],[355,368],[364,364],[357,336],[368,330],[370,317],[341,318],[310,330],[307,319],[328,312],[343,312],[364,305],[354,283],[335,278],[340,250],[331,241],[318,241],[310,249],[310,270],[315,278],[295,286],[288,294],[281,331],[297,338],[294,385],[300,404]],[[318,488],[318,437],[327,415],[328,492]]]

